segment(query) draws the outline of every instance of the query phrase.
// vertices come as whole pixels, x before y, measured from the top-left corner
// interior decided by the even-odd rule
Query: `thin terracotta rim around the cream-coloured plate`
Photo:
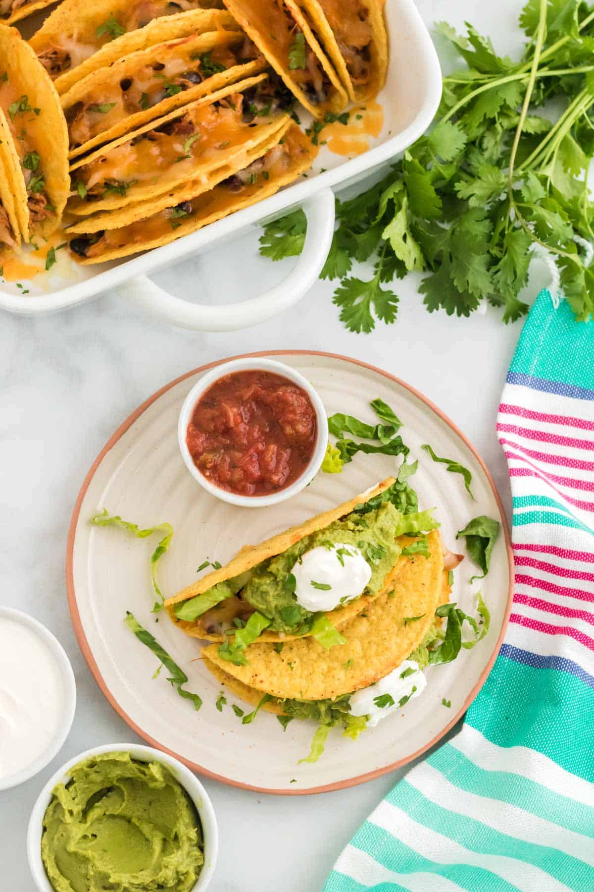
[[[126,431],[134,424],[136,419],[142,415],[142,413],[148,409],[152,403],[156,400],[159,400],[159,397],[170,390],[172,387],[175,387],[175,384],[179,384],[181,381],[184,381],[186,378],[191,377],[192,375],[198,375],[203,372],[206,372],[210,368],[216,368],[216,366],[223,365],[224,362],[229,362],[232,359],[258,359],[260,357],[265,356],[322,356],[328,357],[330,359],[341,359],[344,362],[350,362],[354,365],[361,366],[362,368],[369,368],[373,372],[377,372],[379,375],[383,375],[391,381],[394,381],[395,384],[399,384],[405,390],[411,392],[413,396],[417,397],[420,401],[424,402],[425,405],[435,412],[435,415],[440,417],[442,421],[448,425],[454,434],[457,434],[460,437],[460,440],[464,442],[468,449],[474,454],[476,460],[479,465],[483,469],[484,475],[491,486],[492,494],[494,496],[495,501],[497,502],[497,507],[500,513],[500,524],[503,530],[503,535],[505,538],[505,548],[508,556],[509,563],[509,591],[508,591],[508,600],[505,609],[505,615],[503,616],[503,623],[501,624],[500,636],[495,642],[495,646],[492,649],[492,654],[489,657],[483,672],[481,673],[478,681],[474,688],[468,694],[468,697],[464,701],[460,710],[452,717],[450,722],[448,722],[442,731],[437,734],[433,739],[429,740],[425,746],[420,747],[416,752],[412,753],[410,756],[406,756],[403,759],[399,759],[398,761],[385,765],[382,768],[377,768],[375,771],[367,772],[365,774],[359,774],[354,778],[348,778],[347,780],[338,780],[336,783],[327,784],[321,787],[313,787],[311,789],[270,789],[268,787],[256,787],[251,784],[241,783],[240,780],[232,780],[231,778],[224,777],[222,774],[216,774],[216,772],[208,771],[204,765],[200,765],[195,762],[191,762],[190,759],[186,759],[181,756],[179,753],[175,753],[174,750],[169,749],[168,747],[163,746],[159,740],[156,740],[151,737],[146,731],[143,731],[142,728],[137,725],[134,720],[119,706],[117,699],[113,696],[109,688],[107,687],[105,681],[102,678],[102,674],[99,671],[99,667],[95,662],[93,652],[89,646],[88,641],[86,640],[85,632],[83,630],[83,626],[81,623],[80,615],[78,613],[77,607],[77,595],[74,588],[74,574],[73,574],[73,556],[74,556],[74,539],[77,531],[78,518],[80,516],[80,508],[85,498],[86,491],[91,483],[97,468],[101,465],[103,458],[107,455],[107,453],[115,446],[118,440],[126,434]],[[70,612],[70,619],[72,621],[72,626],[74,628],[74,633],[77,637],[78,646],[81,649],[83,657],[85,657],[86,664],[91,670],[92,675],[94,676],[94,680],[99,685],[100,690],[102,691],[103,696],[108,700],[110,706],[112,706],[115,711],[124,719],[126,724],[136,734],[139,735],[142,739],[146,740],[147,743],[150,744],[151,747],[156,747],[160,749],[162,752],[167,753],[169,756],[174,756],[176,759],[179,759],[180,762],[187,765],[188,768],[191,768],[192,771],[199,772],[199,774],[204,775],[205,777],[212,778],[213,780],[220,780],[222,783],[228,784],[231,787],[239,787],[241,789],[253,790],[257,793],[268,793],[273,796],[308,796],[313,793],[329,793],[332,790],[338,789],[347,789],[348,787],[354,787],[357,784],[365,783],[367,780],[374,780],[374,778],[380,777],[382,774],[387,774],[388,772],[392,772],[395,768],[402,768],[403,765],[409,764],[414,759],[421,756],[423,753],[427,752],[427,749],[435,746],[439,740],[443,738],[443,736],[450,731],[455,723],[458,722],[462,714],[466,712],[468,706],[473,702],[478,694],[479,690],[484,685],[486,681],[487,675],[491,672],[492,665],[497,658],[497,655],[500,651],[501,642],[503,641],[505,632],[509,623],[509,615],[511,613],[512,599],[513,599],[513,585],[514,585],[514,558],[513,558],[513,550],[511,547],[511,539],[509,536],[509,525],[507,518],[505,516],[505,511],[503,508],[503,503],[500,498],[500,494],[497,491],[497,487],[492,479],[492,475],[490,474],[488,468],[484,464],[483,459],[480,457],[478,452],[472,443],[468,440],[468,437],[460,431],[460,428],[455,425],[451,418],[443,413],[439,407],[435,406],[435,403],[428,400],[426,396],[420,393],[416,388],[412,387],[411,384],[407,384],[402,378],[399,378],[395,375],[391,375],[389,372],[385,371],[383,368],[378,368],[377,366],[371,365],[369,362],[363,362],[361,359],[354,359],[353,357],[343,356],[340,353],[330,353],[326,351],[314,351],[314,350],[266,350],[259,352],[250,352],[250,353],[241,353],[236,356],[226,357],[224,359],[216,359],[214,362],[208,362],[204,366],[199,366],[198,368],[192,368],[191,371],[185,372],[183,375],[180,375],[177,378],[174,378],[173,381],[170,381],[165,386],[161,387],[157,392],[153,393],[152,396],[142,402],[142,404],[134,409],[131,415],[126,418],[121,425],[119,425],[118,429],[114,434],[110,436],[110,439],[105,444],[97,458],[95,458],[93,465],[91,466],[88,474],[85,476],[85,480],[83,485],[80,488],[80,491],[77,495],[77,500],[75,502],[74,509],[72,511],[72,517],[70,520],[69,527],[69,535],[68,535],[68,544],[66,548],[66,590],[68,593],[68,605]]]

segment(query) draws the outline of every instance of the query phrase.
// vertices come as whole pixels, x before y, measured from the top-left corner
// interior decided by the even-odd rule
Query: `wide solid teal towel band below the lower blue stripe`
[[[500,747],[530,747],[594,781],[594,690],[570,673],[500,656],[466,721]]]

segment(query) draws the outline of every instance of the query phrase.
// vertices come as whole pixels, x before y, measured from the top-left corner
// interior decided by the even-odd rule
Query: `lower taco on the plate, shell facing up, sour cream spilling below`
[[[242,700],[285,716],[283,726],[292,718],[320,723],[304,760],[316,761],[332,727],[342,725],[355,739],[427,685],[423,669],[441,644],[435,613],[450,595],[438,533],[427,535],[427,546],[426,558],[399,559],[390,591],[343,626],[341,647],[326,650],[311,637],[281,646],[258,642],[244,665],[234,665],[212,644],[202,650],[203,664]]]

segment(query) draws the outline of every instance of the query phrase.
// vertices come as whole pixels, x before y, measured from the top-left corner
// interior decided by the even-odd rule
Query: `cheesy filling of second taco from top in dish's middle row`
[[[123,78],[103,81],[66,111],[70,148],[75,149],[110,130],[130,115],[146,111],[168,97],[184,93],[213,75],[257,59],[256,46],[246,37],[240,45],[215,45],[206,53],[191,50],[191,38],[162,45],[151,62],[127,70]],[[186,45],[189,46],[186,49]],[[181,104],[181,103],[180,103]]]

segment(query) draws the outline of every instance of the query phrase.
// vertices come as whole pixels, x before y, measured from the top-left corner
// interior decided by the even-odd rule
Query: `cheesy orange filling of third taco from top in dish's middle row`
[[[188,106],[183,113],[133,136],[77,169],[73,188],[84,202],[109,195],[126,196],[137,184],[183,182],[223,162],[239,150],[258,125],[278,119],[285,103],[282,94],[231,93],[209,104]],[[262,96],[265,96],[263,101]],[[254,111],[256,110],[256,111]],[[256,134],[254,133],[254,136]],[[167,185],[160,183],[160,191]]]

